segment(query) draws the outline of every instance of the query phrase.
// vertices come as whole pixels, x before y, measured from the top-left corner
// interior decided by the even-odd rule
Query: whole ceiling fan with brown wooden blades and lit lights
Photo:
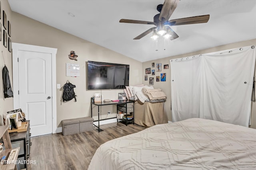
[[[141,39],[142,37],[148,35],[153,31],[153,35],[151,38],[154,40],[157,39],[159,35],[163,36],[165,39],[170,39],[170,40],[178,38],[179,36],[172,30],[170,26],[208,22],[210,15],[194,16],[194,17],[188,17],[188,18],[169,20],[170,16],[172,15],[172,13],[177,7],[178,1],[179,0],[165,0],[164,4],[158,5],[156,9],[158,10],[158,12],[160,12],[160,14],[156,14],[154,16],[154,22],[126,20],[126,19],[121,19],[119,22],[156,25],[156,27],[152,27],[147,31],[145,31],[144,33],[134,38],[134,39]]]

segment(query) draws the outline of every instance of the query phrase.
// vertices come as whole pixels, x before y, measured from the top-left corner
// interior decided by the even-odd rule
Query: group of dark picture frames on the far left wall
[[[0,19],[2,19],[2,23],[0,22],[0,41],[3,40],[4,47],[8,47],[8,51],[12,52],[12,40],[11,40],[11,23],[7,20],[7,16],[4,10],[1,9],[1,1],[0,1]],[[2,30],[3,28],[3,30]],[[3,34],[3,39],[2,39]]]

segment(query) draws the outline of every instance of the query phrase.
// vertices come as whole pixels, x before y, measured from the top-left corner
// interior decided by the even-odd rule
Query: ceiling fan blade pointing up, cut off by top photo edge
[[[178,0],[165,0],[160,12],[159,20],[168,21],[172,13],[177,7]]]

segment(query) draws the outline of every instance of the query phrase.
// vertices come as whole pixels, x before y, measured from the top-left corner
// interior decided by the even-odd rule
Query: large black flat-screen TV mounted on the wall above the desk
[[[129,67],[126,64],[88,61],[87,89],[123,89],[129,86]]]

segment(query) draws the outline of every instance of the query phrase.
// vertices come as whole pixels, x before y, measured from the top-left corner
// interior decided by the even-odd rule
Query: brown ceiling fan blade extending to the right
[[[210,15],[194,16],[194,17],[170,20],[169,23],[175,22],[172,25],[186,25],[186,24],[194,24],[194,23],[206,23],[206,22],[208,22],[209,18],[210,18]]]

